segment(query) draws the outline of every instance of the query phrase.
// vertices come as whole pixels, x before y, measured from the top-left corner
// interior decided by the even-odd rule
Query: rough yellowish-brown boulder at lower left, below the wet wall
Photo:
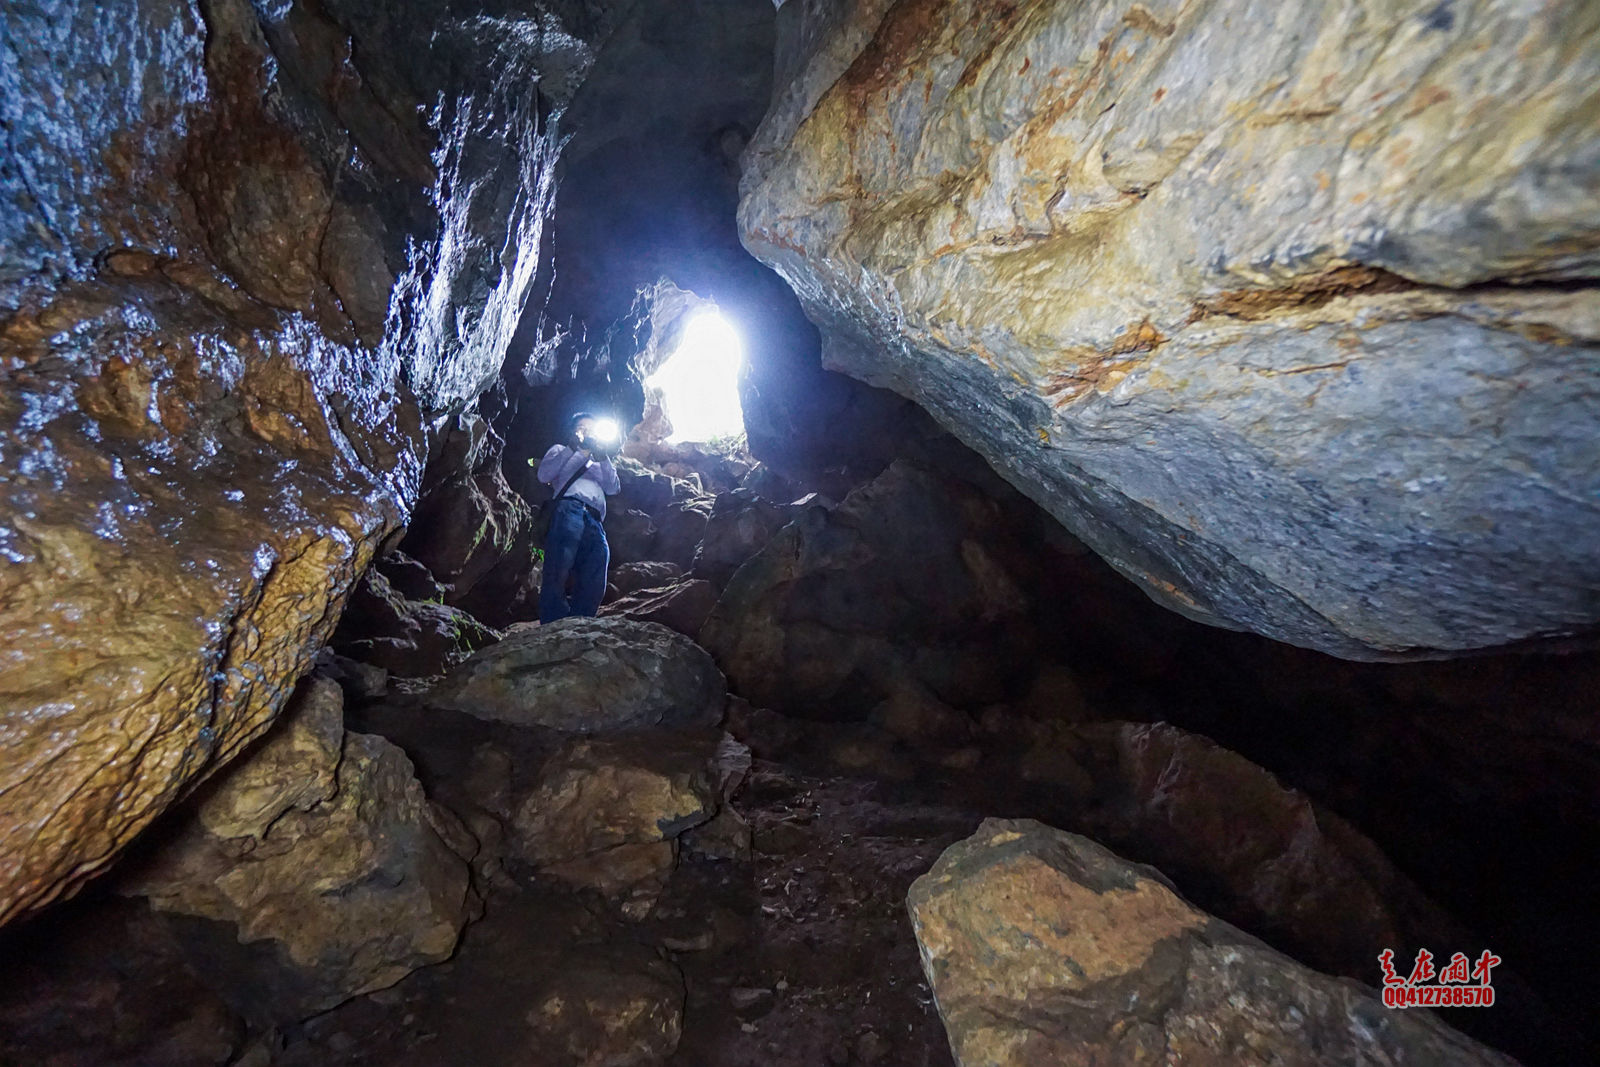
[[[118,886],[222,923],[190,934],[197,966],[256,1019],[306,1017],[448,958],[477,905],[470,837],[398,747],[346,733],[341,707],[333,681],[304,683]]]

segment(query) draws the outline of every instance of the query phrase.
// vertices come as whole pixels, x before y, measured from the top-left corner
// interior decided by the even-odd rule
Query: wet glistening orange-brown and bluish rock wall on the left
[[[565,85],[533,75],[584,54],[445,3],[5,18],[0,921],[270,725],[499,371]]]

